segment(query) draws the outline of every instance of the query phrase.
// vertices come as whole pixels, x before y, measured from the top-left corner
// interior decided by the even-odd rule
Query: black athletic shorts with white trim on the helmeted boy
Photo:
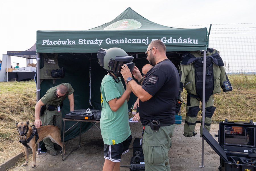
[[[122,143],[107,145],[104,144],[104,158],[112,162],[120,162],[121,155],[129,151],[129,145],[131,144],[131,135]]]

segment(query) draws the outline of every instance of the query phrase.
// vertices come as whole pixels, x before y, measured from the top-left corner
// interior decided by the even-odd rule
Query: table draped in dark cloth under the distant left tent
[[[15,79],[16,81],[33,80],[36,72],[8,72],[8,81]]]

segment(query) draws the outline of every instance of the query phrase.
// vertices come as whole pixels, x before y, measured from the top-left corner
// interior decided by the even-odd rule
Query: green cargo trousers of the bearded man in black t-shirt
[[[157,132],[146,125],[142,140],[146,171],[171,171],[168,151],[172,146],[175,124],[160,127]]]

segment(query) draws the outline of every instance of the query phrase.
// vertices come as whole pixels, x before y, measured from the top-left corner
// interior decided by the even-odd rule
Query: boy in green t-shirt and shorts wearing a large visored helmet
[[[104,141],[105,158],[103,171],[117,171],[120,170],[121,155],[128,152],[132,140],[127,105],[131,88],[125,82],[126,90],[124,89],[117,69],[120,62],[117,59],[128,59],[129,56],[120,48],[100,50],[97,55],[99,64],[108,71],[100,86],[102,106],[100,130]]]

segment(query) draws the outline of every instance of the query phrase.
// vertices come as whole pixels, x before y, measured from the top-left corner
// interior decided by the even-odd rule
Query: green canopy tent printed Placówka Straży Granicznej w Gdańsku
[[[164,17],[164,16],[163,16]],[[166,19],[168,20],[168,19]],[[119,47],[134,57],[134,63],[141,69],[148,61],[144,52],[152,40],[160,39],[166,45],[167,56],[175,63],[180,62],[182,51],[206,50],[207,28],[182,29],[166,27],[153,23],[131,8],[127,8],[114,20],[89,30],[79,31],[37,31],[37,82],[39,68],[44,60],[42,53],[58,54],[59,67],[65,69],[65,77],[55,80],[43,80],[37,84],[37,100],[46,91],[60,83],[67,82],[75,89],[75,109],[101,109],[100,83],[107,72],[98,65],[98,49]],[[178,67],[177,67],[178,68]],[[40,87],[39,87],[40,86]],[[40,93],[39,93],[40,92]],[[131,95],[128,106],[135,102]],[[69,101],[65,99],[62,113],[69,112]],[[70,124],[70,125],[69,125]],[[66,124],[67,128],[73,123]],[[83,123],[82,130],[90,129],[90,123]],[[79,125],[66,135],[65,141],[79,135]]]

